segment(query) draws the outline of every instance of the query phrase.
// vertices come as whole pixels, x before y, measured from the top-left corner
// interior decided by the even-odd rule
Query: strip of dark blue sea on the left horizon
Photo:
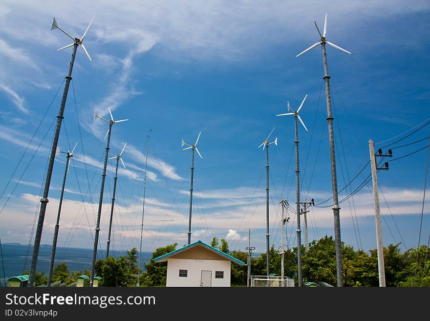
[[[31,257],[33,256],[33,246],[18,244],[1,244],[2,257],[0,256],[0,279],[22,275],[24,271],[30,270]],[[127,255],[124,250],[112,250],[109,254],[114,257]],[[65,262],[69,271],[91,271],[93,249],[63,248],[57,247],[55,251],[54,267],[57,263]],[[106,249],[98,250],[97,259],[103,259]],[[144,263],[148,263],[152,257],[151,252],[142,252],[141,268],[145,271]],[[139,256],[138,256],[139,258]],[[49,261],[51,260],[51,246],[39,248],[36,271],[48,274]]]

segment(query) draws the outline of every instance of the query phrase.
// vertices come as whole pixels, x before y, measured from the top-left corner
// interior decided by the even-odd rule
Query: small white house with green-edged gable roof
[[[230,286],[231,263],[246,265],[200,240],[152,259],[167,261],[166,286]]]

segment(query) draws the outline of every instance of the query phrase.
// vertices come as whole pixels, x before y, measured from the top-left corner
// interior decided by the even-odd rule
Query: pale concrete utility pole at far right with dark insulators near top
[[[381,211],[379,208],[379,193],[378,193],[378,178],[376,176],[377,170],[388,170],[388,162],[385,162],[384,168],[376,167],[376,156],[378,157],[392,157],[391,150],[388,150],[387,155],[382,154],[382,150],[379,149],[378,153],[374,153],[373,141],[369,139],[369,151],[370,151],[370,168],[372,170],[372,182],[373,182],[373,200],[375,202],[375,221],[376,221],[376,243],[378,251],[378,274],[379,274],[379,286],[385,287],[385,267],[384,267],[384,246],[382,243],[381,233]]]

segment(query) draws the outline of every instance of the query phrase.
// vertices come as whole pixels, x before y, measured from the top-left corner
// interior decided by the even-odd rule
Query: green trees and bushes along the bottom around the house
[[[400,243],[390,244],[384,247],[384,265],[387,286],[430,286],[430,253],[429,248],[421,245],[419,249],[409,249],[400,253]],[[146,271],[140,274],[139,284],[141,286],[166,286],[167,262],[154,263],[152,259],[160,257],[176,249],[177,243],[157,248],[151,260],[145,264]],[[232,257],[247,262],[247,252],[229,252],[228,243],[214,237],[211,246],[219,249]],[[102,277],[101,286],[135,286],[137,283],[137,250],[132,248],[127,251],[126,256],[120,258],[108,257],[98,260],[95,265],[95,273]],[[332,236],[325,235],[320,240],[313,240],[309,249],[302,254],[302,276],[303,282],[326,282],[336,285],[336,254],[335,241]],[[269,272],[281,275],[281,255],[275,250],[274,245],[269,252]],[[378,255],[377,250],[355,251],[352,246],[342,243],[342,259],[344,272],[344,286],[369,287],[379,286]],[[231,285],[247,285],[247,266],[232,263]],[[424,269],[423,269],[424,267]],[[25,273],[24,273],[25,274]],[[28,271],[26,272],[28,274]],[[59,263],[53,270],[52,282],[61,280],[67,284],[76,281],[80,275],[90,276],[89,271],[69,272],[67,265]],[[423,276],[424,274],[424,276]],[[266,275],[266,253],[259,257],[251,258],[251,275]],[[297,247],[284,252],[284,275],[295,279],[297,285]],[[47,277],[42,272],[35,275],[35,285],[46,284]]]

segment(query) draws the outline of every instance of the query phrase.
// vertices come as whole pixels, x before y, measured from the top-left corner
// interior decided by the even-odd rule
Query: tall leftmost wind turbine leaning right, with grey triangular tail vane
[[[92,20],[91,20],[91,22],[92,22]],[[55,154],[56,154],[56,151],[57,151],[58,138],[60,136],[61,123],[62,123],[63,118],[64,118],[63,115],[64,115],[65,102],[67,100],[67,93],[68,93],[69,86],[70,86],[70,80],[72,79],[71,76],[72,76],[73,64],[75,62],[76,49],[78,48],[78,45],[81,45],[81,47],[86,52],[86,49],[85,49],[85,47],[84,47],[84,45],[83,45],[82,42],[84,41],[86,32],[88,31],[88,28],[91,25],[91,22],[89,23],[88,27],[86,28],[86,30],[84,32],[84,35],[82,36],[81,39],[72,38],[67,33],[65,33],[58,26],[57,21],[55,21],[55,18],[54,18],[54,21],[52,22],[52,26],[51,26],[51,30],[52,29],[60,29],[68,37],[72,38],[73,41],[74,41],[74,43],[61,48],[61,49],[64,49],[64,48],[73,46],[73,52],[72,52],[72,58],[70,60],[69,71],[67,73],[67,76],[65,77],[63,99],[61,100],[60,110],[59,110],[58,116],[57,116],[57,125],[55,127],[54,139],[52,140],[51,153],[50,153],[50,156],[49,156],[48,168],[47,168],[47,171],[46,171],[45,186],[44,186],[44,189],[43,189],[43,196],[41,198],[41,206],[40,206],[40,212],[39,212],[39,219],[38,219],[38,222],[37,222],[36,235],[34,237],[33,256],[31,258],[30,275],[29,275],[29,280],[28,280],[28,285],[29,286],[33,286],[34,276],[36,274],[37,259],[38,259],[38,256],[39,256],[39,248],[40,248],[40,243],[41,243],[41,238],[42,238],[43,221],[45,219],[46,205],[49,202],[49,200],[48,200],[49,186],[51,185],[51,176],[52,176],[52,170],[53,170],[53,167],[54,167]],[[86,52],[86,54],[88,55],[87,52]]]

